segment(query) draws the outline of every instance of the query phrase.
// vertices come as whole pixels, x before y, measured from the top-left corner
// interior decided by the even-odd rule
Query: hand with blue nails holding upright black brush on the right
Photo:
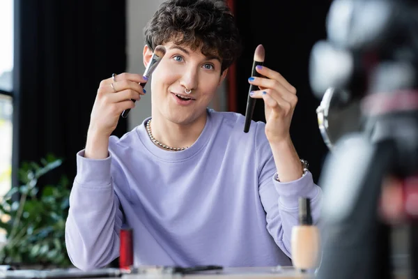
[[[265,135],[270,144],[290,140],[290,127],[297,103],[296,89],[279,73],[265,66],[256,66],[264,77],[250,77],[248,82],[260,90],[250,93],[252,98],[263,98]]]

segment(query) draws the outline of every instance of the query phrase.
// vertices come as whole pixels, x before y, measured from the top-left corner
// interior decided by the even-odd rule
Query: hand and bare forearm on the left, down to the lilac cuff
[[[102,80],[90,116],[84,157],[104,159],[109,156],[109,136],[118,126],[124,110],[132,109],[145,90],[139,83],[145,83],[142,75],[123,73],[115,79]]]

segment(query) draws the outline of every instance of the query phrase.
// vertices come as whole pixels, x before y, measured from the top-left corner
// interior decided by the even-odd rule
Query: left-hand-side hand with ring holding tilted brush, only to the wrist
[[[89,133],[109,137],[122,112],[135,107],[132,100],[140,100],[144,95],[140,82],[146,82],[145,77],[132,73],[116,75],[115,80],[112,77],[102,80],[91,111]]]

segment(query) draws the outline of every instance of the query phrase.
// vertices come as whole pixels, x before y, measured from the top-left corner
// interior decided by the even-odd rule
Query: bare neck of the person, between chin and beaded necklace
[[[161,116],[153,116],[150,123],[151,133],[155,140],[173,148],[192,146],[201,135],[206,125],[206,113],[188,124],[178,124]],[[158,145],[157,145],[158,146]],[[162,146],[160,148],[164,149]]]

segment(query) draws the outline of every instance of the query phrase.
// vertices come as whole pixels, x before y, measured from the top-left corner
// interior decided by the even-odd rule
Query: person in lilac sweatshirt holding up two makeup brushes
[[[241,53],[225,1],[166,1],[144,33],[145,65],[157,45],[167,50],[151,78],[152,113],[111,135],[123,110],[141,110],[130,99],[140,100],[146,80],[121,73],[100,82],[65,226],[72,263],[108,266],[127,226],[135,266],[291,265],[298,198],[311,199],[315,223],[322,199],[291,141],[296,89],[259,68],[264,77],[249,83],[266,121],[244,133],[244,116],[208,109]]]

